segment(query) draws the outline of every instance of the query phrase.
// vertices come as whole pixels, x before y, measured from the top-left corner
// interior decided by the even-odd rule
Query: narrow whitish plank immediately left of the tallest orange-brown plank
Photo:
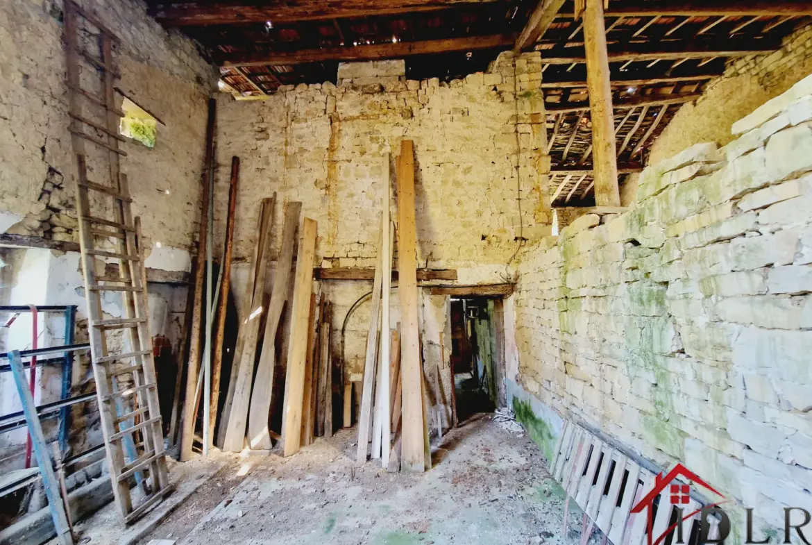
[[[384,160],[384,177],[383,177],[383,195],[381,197],[381,210],[382,210],[382,249],[381,249],[381,270],[382,270],[382,283],[381,283],[381,394],[380,402],[378,403],[378,410],[380,412],[379,421],[381,422],[381,465],[386,468],[389,465],[389,452],[391,441],[390,429],[390,414],[389,414],[389,391],[391,384],[391,357],[389,353],[390,346],[390,318],[389,318],[389,296],[391,289],[392,278],[392,244],[395,243],[395,226],[391,222],[389,201],[390,201],[390,185],[389,185],[389,158]]]

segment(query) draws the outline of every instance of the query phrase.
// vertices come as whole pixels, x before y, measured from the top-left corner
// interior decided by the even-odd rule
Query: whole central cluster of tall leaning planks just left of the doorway
[[[398,297],[402,323],[391,331],[389,295],[395,229],[389,213],[390,184],[387,175],[383,184],[379,260],[370,305],[361,410],[358,415],[356,462],[364,464],[369,455],[373,459],[380,459],[382,467],[391,471],[401,468],[424,471],[431,467],[431,456],[417,324],[417,233],[412,141],[402,142],[395,164],[400,226]]]

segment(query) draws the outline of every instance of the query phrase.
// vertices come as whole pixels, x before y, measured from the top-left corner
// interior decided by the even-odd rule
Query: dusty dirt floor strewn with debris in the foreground
[[[287,459],[230,465],[140,543],[579,543],[581,513],[570,509],[562,536],[563,491],[538,447],[489,414],[433,445],[425,474],[356,468],[355,443],[356,430],[342,430]]]

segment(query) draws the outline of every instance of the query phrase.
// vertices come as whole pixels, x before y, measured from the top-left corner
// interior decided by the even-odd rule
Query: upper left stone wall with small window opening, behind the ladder
[[[121,40],[114,50],[122,76],[116,82],[119,106],[126,93],[162,122],[153,149],[134,141],[122,145],[133,212],[141,216],[145,236],[162,243],[153,247],[164,255],[153,257],[152,266],[188,267],[183,254],[197,232],[206,99],[217,72],[191,40],[149,18],[140,0],[80,4]],[[62,2],[2,2],[0,232],[78,240],[66,63]],[[91,106],[83,104],[89,112]],[[100,112],[93,111],[97,119]],[[171,249],[182,255],[167,257]]]

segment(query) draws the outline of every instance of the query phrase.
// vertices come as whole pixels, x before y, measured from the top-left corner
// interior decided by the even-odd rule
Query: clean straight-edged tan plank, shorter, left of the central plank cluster
[[[313,258],[316,252],[315,220],[304,218],[299,252],[296,254],[296,281],[291,305],[291,343],[287,350],[285,409],[283,413],[284,456],[299,452],[304,364],[307,359],[308,311],[313,291]]]

